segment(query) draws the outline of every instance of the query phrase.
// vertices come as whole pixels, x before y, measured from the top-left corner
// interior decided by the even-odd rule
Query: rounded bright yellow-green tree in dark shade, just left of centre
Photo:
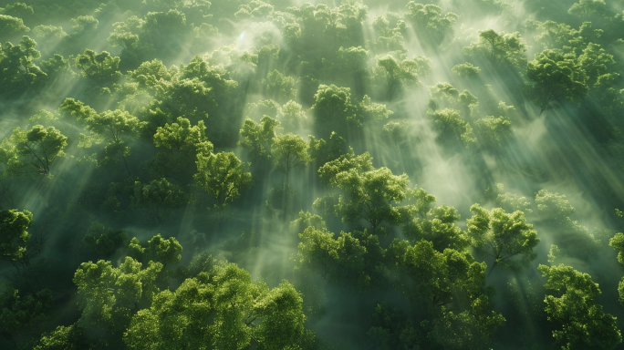
[[[217,208],[224,208],[254,183],[251,173],[244,170],[243,162],[233,152],[198,155],[197,173],[193,178],[213,196]]]

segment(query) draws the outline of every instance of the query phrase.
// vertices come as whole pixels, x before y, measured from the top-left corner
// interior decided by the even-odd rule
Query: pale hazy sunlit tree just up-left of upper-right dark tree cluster
[[[526,45],[520,34],[496,33],[494,29],[479,32],[479,41],[463,47],[464,55],[481,56],[492,65],[507,64],[512,67],[524,68],[526,63]]]

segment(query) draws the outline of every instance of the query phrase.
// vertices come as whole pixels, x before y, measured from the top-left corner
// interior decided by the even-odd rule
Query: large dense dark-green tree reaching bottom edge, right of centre
[[[485,285],[484,262],[468,252],[437,252],[432,242],[395,240],[387,254],[400,271],[400,289],[430,319],[421,324],[432,348],[487,348],[505,319],[493,310],[494,289]]]

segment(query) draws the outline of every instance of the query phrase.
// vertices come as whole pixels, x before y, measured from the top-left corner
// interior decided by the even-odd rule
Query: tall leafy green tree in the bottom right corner
[[[553,336],[562,349],[612,349],[622,342],[616,318],[596,304],[600,288],[588,273],[564,264],[539,265],[538,270],[548,278],[546,314],[556,324]]]

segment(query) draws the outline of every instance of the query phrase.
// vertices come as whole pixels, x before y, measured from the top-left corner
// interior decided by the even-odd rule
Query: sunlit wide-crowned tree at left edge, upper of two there
[[[36,125],[32,129],[13,130],[10,139],[0,144],[0,163],[5,164],[5,174],[22,174],[31,171],[50,175],[50,167],[57,157],[63,157],[68,138],[54,127]]]

